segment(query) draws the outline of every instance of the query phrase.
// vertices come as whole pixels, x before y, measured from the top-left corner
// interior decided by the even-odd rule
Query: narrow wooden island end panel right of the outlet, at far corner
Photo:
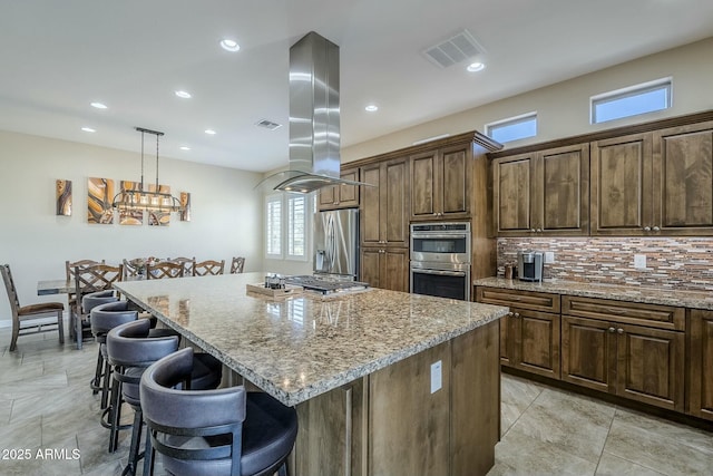
[[[500,439],[500,337],[498,321],[453,339],[451,470],[485,475]]]

